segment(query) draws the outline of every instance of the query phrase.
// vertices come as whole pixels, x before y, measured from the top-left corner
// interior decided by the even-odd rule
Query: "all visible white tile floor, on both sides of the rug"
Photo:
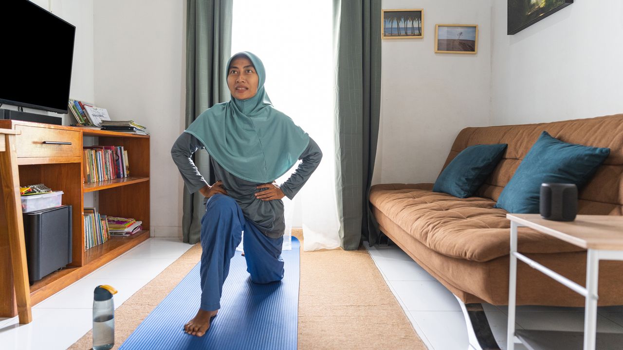
[[[151,238],[68,286],[32,309],[33,321],[0,318],[1,349],[66,349],[91,327],[93,288],[110,284],[119,290],[115,306],[130,298],[191,245],[179,239]],[[455,297],[396,245],[368,247],[389,289],[422,341],[434,350],[468,350],[465,319]],[[500,348],[506,348],[506,307],[483,305]],[[518,308],[517,328],[583,329],[582,308]],[[623,333],[623,306],[599,308],[597,328]],[[523,346],[516,346],[525,350]]]

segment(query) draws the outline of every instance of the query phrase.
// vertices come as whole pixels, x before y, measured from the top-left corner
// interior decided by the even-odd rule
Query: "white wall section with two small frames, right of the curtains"
[[[491,1],[383,1],[383,9],[424,9],[424,38],[381,43],[373,184],[434,182],[459,131],[490,125]],[[478,24],[478,53],[435,54],[435,24]]]

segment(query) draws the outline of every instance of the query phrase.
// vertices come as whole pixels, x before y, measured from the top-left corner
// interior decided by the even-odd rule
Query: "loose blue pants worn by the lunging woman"
[[[215,194],[208,199],[206,214],[201,219],[201,310],[221,308],[223,282],[229,273],[229,260],[242,240],[242,231],[251,281],[282,280],[283,237],[267,237],[252,222],[247,222],[232,197]]]

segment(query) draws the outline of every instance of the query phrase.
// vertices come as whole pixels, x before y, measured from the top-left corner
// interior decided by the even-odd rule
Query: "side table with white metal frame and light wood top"
[[[510,275],[508,278],[508,338],[506,349],[515,349],[515,336],[518,336],[522,342],[536,339],[538,336],[545,336],[546,338],[555,339],[554,343],[558,344],[558,346],[563,346],[562,343],[570,344],[569,342],[573,341],[573,338],[578,338],[578,334],[570,336],[562,335],[561,333],[563,332],[553,331],[515,332],[517,259],[528,263],[531,268],[545,273],[559,283],[568,286],[571,290],[576,291],[576,293],[586,297],[583,349],[596,349],[599,260],[623,260],[623,216],[578,215],[576,220],[571,222],[545,220],[539,214],[506,214],[506,218],[510,220]],[[586,248],[586,288],[517,252],[517,227],[530,227],[578,247]],[[623,346],[623,334],[608,335],[610,339],[605,338],[606,334],[604,334],[604,338],[600,334],[600,343]],[[548,341],[536,341],[535,343],[539,344],[531,345],[531,349],[545,349],[546,347],[543,347],[542,344],[548,343]],[[569,346],[571,345],[564,345],[565,349],[571,349]]]

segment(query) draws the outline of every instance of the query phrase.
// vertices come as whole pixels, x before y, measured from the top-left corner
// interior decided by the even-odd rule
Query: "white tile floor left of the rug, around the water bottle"
[[[181,239],[142,242],[32,308],[32,323],[0,318],[0,349],[67,349],[92,328],[93,288],[112,285],[115,308],[191,248]]]

